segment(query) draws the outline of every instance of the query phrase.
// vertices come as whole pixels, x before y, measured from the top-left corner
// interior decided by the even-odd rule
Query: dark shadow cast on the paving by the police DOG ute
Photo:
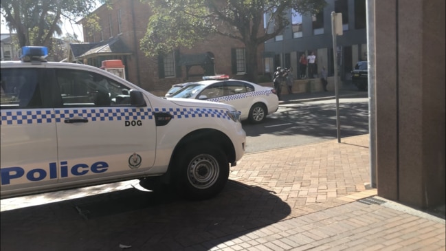
[[[290,213],[271,191],[235,181],[205,201],[129,188],[1,212],[1,250],[209,250]]]

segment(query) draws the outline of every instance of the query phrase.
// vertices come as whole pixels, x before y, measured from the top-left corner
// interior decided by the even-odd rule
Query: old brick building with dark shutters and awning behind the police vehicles
[[[245,45],[225,36],[210,36],[191,49],[180,47],[166,56],[145,56],[140,50],[140,40],[146,34],[150,8],[140,0],[115,0],[111,6],[100,6],[93,14],[98,16],[100,31],[90,32],[86,19],[79,22],[87,44],[70,44],[71,62],[100,67],[104,60],[121,59],[127,80],[159,96],[164,96],[175,83],[205,75],[228,74],[232,78],[245,75]],[[259,70],[263,69],[262,53],[263,47],[259,47]]]

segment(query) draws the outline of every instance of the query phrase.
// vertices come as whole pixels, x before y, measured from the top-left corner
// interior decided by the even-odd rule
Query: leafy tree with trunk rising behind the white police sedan
[[[172,52],[179,46],[192,47],[219,34],[245,44],[247,79],[253,82],[258,78],[258,46],[281,34],[290,24],[288,11],[315,14],[326,5],[324,0],[142,1],[153,11],[140,42],[146,56]]]

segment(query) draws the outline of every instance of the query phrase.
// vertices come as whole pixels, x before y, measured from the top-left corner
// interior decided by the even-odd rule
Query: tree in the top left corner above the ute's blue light
[[[100,0],[104,3],[106,0]],[[6,25],[15,30],[19,46],[52,47],[54,34],[61,35],[62,18],[70,23],[87,17],[97,0],[1,0]]]

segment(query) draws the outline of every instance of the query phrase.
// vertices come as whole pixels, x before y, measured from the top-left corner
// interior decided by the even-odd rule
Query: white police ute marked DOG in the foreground
[[[45,47],[22,54],[1,62],[2,199],[146,177],[206,199],[245,151],[230,105],[159,98],[96,67],[46,62]]]

